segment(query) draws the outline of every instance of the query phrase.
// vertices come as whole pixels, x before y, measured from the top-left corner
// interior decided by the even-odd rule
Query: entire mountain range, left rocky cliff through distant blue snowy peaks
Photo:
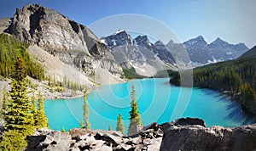
[[[98,39],[86,26],[38,4],[17,8],[10,21],[5,19],[1,22],[4,23],[1,25],[2,31],[4,28],[5,33],[30,44],[30,53],[39,59],[44,58],[41,62],[50,62],[47,59],[54,57],[87,77],[78,82],[119,82],[125,77],[124,69],[134,69],[142,76],[154,76],[159,70],[177,70],[183,64],[195,67],[236,59],[248,50],[243,43],[230,44],[220,38],[207,44],[203,36],[183,43],[172,40],[166,44],[160,40],[152,43],[146,35],[132,38],[125,30]],[[37,48],[47,53],[33,51]],[[189,54],[188,59],[183,52]],[[51,57],[41,56],[43,54]],[[48,75],[54,75],[59,80],[63,76],[70,76],[65,69],[55,73],[55,64],[46,68]],[[69,78],[78,79],[74,76]]]

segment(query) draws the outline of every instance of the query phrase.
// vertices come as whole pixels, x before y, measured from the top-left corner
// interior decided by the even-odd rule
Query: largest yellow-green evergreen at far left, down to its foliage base
[[[26,67],[23,60],[17,59],[15,74],[12,76],[9,103],[5,120],[5,131],[1,143],[2,150],[22,150],[26,146],[25,138],[33,132],[32,104],[26,97]]]

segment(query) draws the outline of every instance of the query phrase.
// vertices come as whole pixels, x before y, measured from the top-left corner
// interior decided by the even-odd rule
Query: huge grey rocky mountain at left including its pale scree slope
[[[46,75],[58,81],[63,76],[79,83],[88,81],[89,85],[123,81],[121,66],[94,33],[53,9],[38,4],[17,8],[5,32],[30,44],[29,52],[41,64],[48,63],[44,65]]]

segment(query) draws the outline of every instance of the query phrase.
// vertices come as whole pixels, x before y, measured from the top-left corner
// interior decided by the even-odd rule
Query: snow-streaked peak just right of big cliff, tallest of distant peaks
[[[139,75],[154,76],[158,70],[170,68],[175,70],[172,66],[175,61],[172,60],[171,64],[166,64],[160,59],[158,53],[155,53],[161,51],[160,47],[155,48],[154,44],[148,40],[148,36],[137,36],[132,39],[126,31],[121,30],[113,35],[102,37],[101,42],[111,49],[111,53],[120,65],[129,69],[133,67]],[[171,55],[172,59],[170,52],[168,55]]]

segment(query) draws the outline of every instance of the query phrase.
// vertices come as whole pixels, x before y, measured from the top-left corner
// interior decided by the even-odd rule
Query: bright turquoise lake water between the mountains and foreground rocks
[[[108,126],[112,126],[115,130],[120,113],[127,129],[131,111],[131,85],[135,86],[137,92],[138,109],[144,125],[154,121],[169,122],[180,117],[198,117],[205,120],[207,126],[241,126],[255,121],[226,95],[196,87],[175,87],[168,81],[169,78],[132,80],[101,86],[90,92],[91,128],[108,130]],[[83,118],[83,98],[46,100],[44,104],[50,129],[79,127]]]

